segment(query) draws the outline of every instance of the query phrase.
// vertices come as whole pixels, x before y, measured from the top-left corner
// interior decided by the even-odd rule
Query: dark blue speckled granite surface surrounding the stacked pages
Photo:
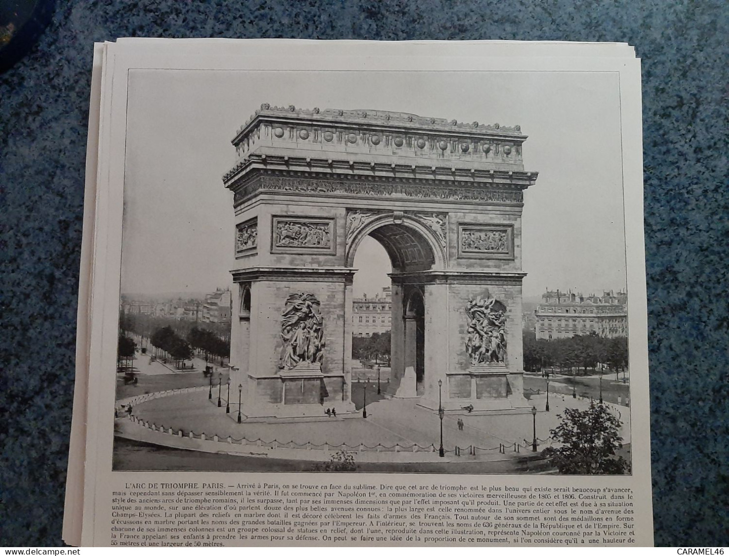
[[[61,545],[92,44],[118,36],[634,45],[655,541],[729,544],[724,0],[59,1],[39,44],[0,76],[0,544]]]

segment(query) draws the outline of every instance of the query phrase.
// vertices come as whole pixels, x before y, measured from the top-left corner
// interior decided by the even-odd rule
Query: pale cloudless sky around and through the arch
[[[231,283],[230,144],[263,102],[380,109],[521,125],[527,171],[523,283],[582,293],[625,287],[617,75],[598,72],[130,72],[122,293],[203,293]],[[356,254],[355,294],[389,284],[375,242]]]

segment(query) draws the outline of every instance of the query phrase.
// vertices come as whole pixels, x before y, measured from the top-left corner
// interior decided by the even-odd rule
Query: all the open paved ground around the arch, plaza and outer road
[[[205,361],[195,360],[193,363],[195,370],[181,371],[174,368],[174,365],[151,360],[149,355],[138,354],[134,360],[138,384],[124,385],[123,375],[120,374],[117,399],[144,395],[144,401],[133,404],[133,420],[125,413],[121,413],[117,419],[117,436],[143,443],[135,450],[134,457],[139,459],[135,465],[156,468],[152,462],[161,456],[160,450],[169,452],[165,452],[167,455],[163,457],[164,461],[175,461],[175,452],[170,450],[176,449],[177,457],[180,458],[179,466],[200,464],[210,466],[211,469],[217,468],[214,460],[195,459],[192,456],[193,451],[200,454],[208,452],[208,457],[234,457],[239,460],[238,464],[235,461],[226,463],[221,460],[223,467],[257,468],[260,464],[254,460],[260,457],[271,462],[271,465],[300,466],[305,465],[306,461],[326,461],[337,449],[346,449],[354,454],[358,466],[375,466],[370,471],[377,471],[378,465],[393,466],[392,469],[388,468],[389,471],[412,471],[408,466],[421,466],[419,470],[424,472],[479,473],[531,472],[533,467],[529,464],[530,471],[524,471],[522,466],[525,458],[533,453],[531,442],[534,421],[531,413],[469,414],[465,410],[445,412],[445,457],[440,458],[437,452],[440,446],[440,419],[437,412],[418,406],[418,398],[386,398],[384,391],[383,395],[376,395],[377,385],[372,382],[376,371],[375,377],[370,377],[370,383],[357,382],[355,379],[353,400],[358,412],[354,415],[327,417],[324,413],[327,407],[324,405],[321,406],[319,418],[286,420],[271,417],[254,422],[246,421],[243,411],[243,422],[238,423],[238,397],[235,389],[230,391],[230,413],[225,412],[227,370],[216,367],[211,388],[211,379],[204,377],[202,372]],[[364,371],[360,372],[364,379]],[[371,372],[370,370],[369,374]],[[362,412],[365,387],[367,418],[363,417]],[[190,390],[179,391],[182,389]],[[146,395],[151,397],[156,392],[166,392],[168,395],[147,399]],[[211,399],[208,399],[208,395],[211,395]],[[221,407],[217,405],[218,395]],[[545,411],[544,391],[528,391],[527,397],[529,404],[538,410],[536,431],[539,451],[552,444],[549,430],[558,425],[558,415],[565,408],[586,409],[590,403],[589,398],[572,398],[569,393],[555,392],[551,385],[550,412]],[[630,410],[607,401],[606,405],[623,422],[620,433],[623,443],[628,444]],[[459,421],[462,422],[462,427],[459,426]],[[154,428],[150,429],[149,424],[153,424]],[[174,434],[170,434],[169,430],[173,430]],[[179,435],[179,430],[183,431],[182,436]],[[189,438],[191,432],[193,439]],[[203,434],[206,441],[200,439]],[[218,439],[217,444],[210,441],[214,438]],[[276,449],[270,448],[271,443]],[[152,445],[159,448],[154,449]],[[128,450],[125,454],[129,455]],[[196,463],[187,462],[190,457]],[[158,460],[158,463],[163,460]],[[145,464],[144,461],[149,463]],[[295,463],[297,461],[300,463]],[[172,464],[172,468],[177,468],[177,465],[178,463]],[[311,466],[311,463],[308,465]],[[464,466],[480,468],[472,471]]]

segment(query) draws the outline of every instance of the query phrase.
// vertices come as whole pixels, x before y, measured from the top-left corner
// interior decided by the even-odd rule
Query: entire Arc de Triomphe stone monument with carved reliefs
[[[387,393],[447,411],[527,408],[521,213],[537,173],[524,169],[525,140],[518,126],[262,105],[223,177],[243,417],[356,413],[352,280],[366,236],[392,263]]]

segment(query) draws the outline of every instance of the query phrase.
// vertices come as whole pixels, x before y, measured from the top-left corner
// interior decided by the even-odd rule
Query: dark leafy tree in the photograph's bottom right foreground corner
[[[620,475],[628,462],[615,452],[623,447],[620,420],[607,406],[590,401],[590,407],[564,410],[560,424],[550,430],[552,439],[562,445],[547,448],[542,454],[551,458],[560,473],[569,475]]]

